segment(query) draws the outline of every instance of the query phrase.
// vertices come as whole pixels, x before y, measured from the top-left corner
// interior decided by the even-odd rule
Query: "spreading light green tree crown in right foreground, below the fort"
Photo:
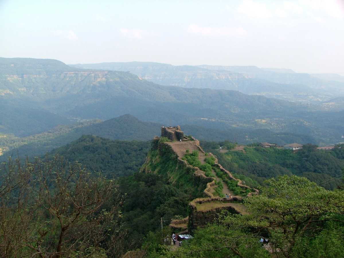
[[[327,191],[298,176],[267,180],[259,195],[247,198],[250,215],[227,216],[230,228],[255,228],[254,236],[267,234],[273,252],[292,257],[300,239],[315,235],[325,222],[344,222],[344,194]]]

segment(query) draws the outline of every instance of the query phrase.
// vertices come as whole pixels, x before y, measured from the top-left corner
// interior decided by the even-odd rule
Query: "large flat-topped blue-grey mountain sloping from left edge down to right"
[[[172,70],[211,71],[203,67],[164,66]],[[295,76],[264,70],[261,73]],[[244,78],[243,74],[238,76]],[[131,72],[82,69],[57,60],[0,58],[0,100],[0,112],[5,117],[0,121],[0,133],[7,137],[27,137],[57,125],[108,120],[124,114],[164,125],[243,132],[264,129],[303,135],[318,144],[339,141],[343,131],[341,105],[333,109],[330,104],[324,109],[321,105],[247,95],[237,90],[164,86]]]

